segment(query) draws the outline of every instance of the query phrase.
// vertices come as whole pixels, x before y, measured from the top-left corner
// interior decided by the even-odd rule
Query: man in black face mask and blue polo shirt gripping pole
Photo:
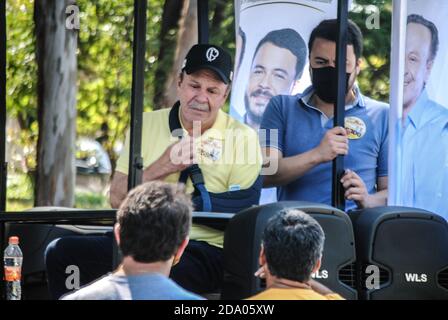
[[[386,204],[388,106],[363,96],[356,85],[362,33],[348,25],[345,128],[333,127],[337,20],[322,21],[308,43],[312,86],[296,96],[271,99],[263,116],[263,154],[277,161],[265,186],[277,186],[278,200],[331,204],[332,160],[345,156],[346,209]],[[272,136],[278,130],[278,141]]]

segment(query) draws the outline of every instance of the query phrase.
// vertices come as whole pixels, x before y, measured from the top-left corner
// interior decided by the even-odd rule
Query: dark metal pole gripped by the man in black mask
[[[345,127],[345,92],[347,60],[348,0],[338,0],[338,41],[336,49],[336,70],[338,74],[338,98],[334,110],[334,126]],[[332,205],[345,210],[344,187],[340,180],[344,175],[344,156],[333,160]]]

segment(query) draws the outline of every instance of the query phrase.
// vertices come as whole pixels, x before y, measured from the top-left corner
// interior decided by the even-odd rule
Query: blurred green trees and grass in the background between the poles
[[[145,109],[164,107],[173,72],[185,6],[196,0],[148,0]],[[365,39],[364,69],[358,81],[364,94],[388,101],[392,0],[356,0],[350,18]],[[78,0],[77,135],[98,141],[112,169],[129,123],[132,76],[133,0]],[[368,29],[371,5],[379,9],[380,28]],[[33,0],[7,0],[7,210],[31,208],[36,169],[37,65]],[[235,52],[233,1],[209,0],[210,42]],[[182,37],[184,35],[182,34]],[[169,105],[168,105],[169,106]],[[78,151],[78,158],[84,156]],[[81,175],[82,176],[82,175]],[[104,177],[101,178],[102,182]],[[83,179],[79,179],[81,181]],[[107,189],[78,186],[75,206],[107,208]]]

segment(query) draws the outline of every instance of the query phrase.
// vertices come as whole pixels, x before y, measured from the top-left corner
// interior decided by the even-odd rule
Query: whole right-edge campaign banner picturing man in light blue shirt
[[[402,63],[402,74],[391,80],[389,204],[447,219],[448,1],[401,5],[393,21],[404,45],[391,61],[392,68]]]

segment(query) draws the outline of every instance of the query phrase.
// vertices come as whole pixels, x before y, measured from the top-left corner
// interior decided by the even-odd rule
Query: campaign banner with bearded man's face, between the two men
[[[310,84],[308,39],[322,20],[337,17],[337,0],[235,0],[236,54],[230,115],[260,127],[270,99]],[[276,201],[264,189],[260,203]]]

